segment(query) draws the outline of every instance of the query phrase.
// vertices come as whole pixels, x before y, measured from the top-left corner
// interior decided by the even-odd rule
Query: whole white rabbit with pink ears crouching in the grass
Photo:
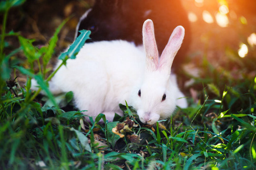
[[[155,124],[170,117],[176,105],[187,107],[171,74],[183,38],[184,28],[176,27],[159,59],[154,25],[148,19],[143,24],[144,51],[123,40],[85,44],[76,59],[68,59],[57,71],[49,88],[53,94],[73,91],[76,107],[88,116],[104,113],[113,121],[115,113],[123,115],[118,104],[127,101],[141,122]]]

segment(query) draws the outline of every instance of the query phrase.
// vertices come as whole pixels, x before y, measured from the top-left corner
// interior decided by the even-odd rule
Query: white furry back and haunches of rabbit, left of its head
[[[61,61],[59,61],[59,64]],[[145,54],[133,43],[115,40],[85,44],[76,59],[68,59],[50,86],[73,91],[76,107],[90,108],[88,114],[115,111],[129,100],[129,92],[141,81]],[[59,66],[57,64],[57,66]],[[87,112],[86,112],[87,113]]]

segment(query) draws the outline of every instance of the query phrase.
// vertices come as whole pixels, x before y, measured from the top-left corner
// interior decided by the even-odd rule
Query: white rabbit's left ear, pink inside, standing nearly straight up
[[[158,48],[155,41],[154,24],[147,19],[143,24],[143,45],[146,51],[146,67],[150,71],[158,68]]]

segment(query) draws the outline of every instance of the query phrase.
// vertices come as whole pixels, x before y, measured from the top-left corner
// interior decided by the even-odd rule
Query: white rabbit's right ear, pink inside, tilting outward
[[[174,61],[177,51],[180,49],[184,35],[185,29],[182,26],[177,26],[174,29],[160,57],[158,69],[166,71],[167,74],[171,73],[172,62]]]

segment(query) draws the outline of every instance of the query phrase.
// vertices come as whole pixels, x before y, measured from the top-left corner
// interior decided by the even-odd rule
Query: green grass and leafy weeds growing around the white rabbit
[[[12,6],[22,2],[5,1],[0,9],[4,18]],[[60,103],[72,105],[72,92],[55,97],[48,91],[47,82],[56,72],[49,74],[47,63],[65,22],[48,45],[38,49],[19,33],[6,33],[3,20],[1,169],[256,169],[256,77],[244,74],[241,82],[230,76],[230,71],[217,70],[205,59],[198,66],[204,70],[201,78],[187,75],[195,80],[191,87],[197,88],[199,102],[189,97],[189,108],[177,109],[170,120],[145,126],[132,108],[121,105],[125,117],[116,116],[114,122],[108,122],[99,114],[95,122],[91,119],[91,124],[86,125],[81,112],[59,108]],[[88,33],[81,33],[71,49],[60,55],[63,65],[75,58]],[[6,36],[17,37],[20,48],[5,54]],[[17,54],[26,56],[26,61],[19,61]],[[25,69],[25,64],[30,67]],[[42,66],[39,73],[34,73],[35,65]],[[24,87],[14,79],[16,73],[27,75]],[[47,97],[40,99],[40,90],[31,92],[32,78]],[[127,117],[137,126],[127,127]],[[98,125],[101,119],[105,124]],[[112,130],[122,125],[128,130],[121,138]]]

